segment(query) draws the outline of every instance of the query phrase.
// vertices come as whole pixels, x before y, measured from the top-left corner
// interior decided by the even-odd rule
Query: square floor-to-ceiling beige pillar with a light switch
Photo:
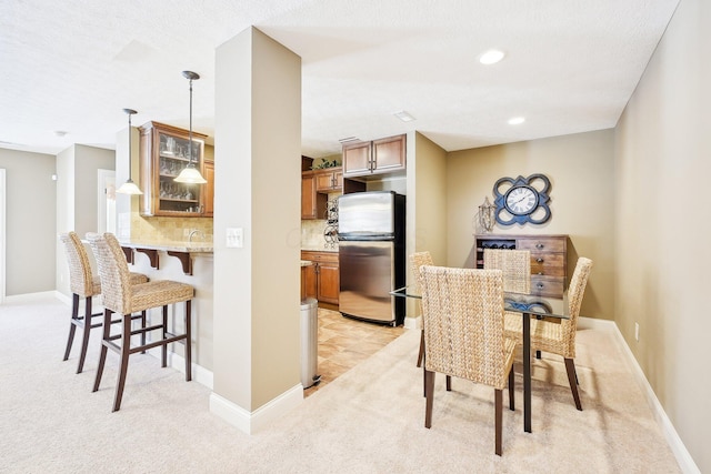
[[[252,413],[300,383],[301,59],[250,28],[216,64],[214,393]]]

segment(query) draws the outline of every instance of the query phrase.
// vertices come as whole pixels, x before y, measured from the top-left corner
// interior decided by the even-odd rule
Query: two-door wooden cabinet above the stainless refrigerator
[[[343,145],[343,177],[368,177],[404,171],[407,135]]]

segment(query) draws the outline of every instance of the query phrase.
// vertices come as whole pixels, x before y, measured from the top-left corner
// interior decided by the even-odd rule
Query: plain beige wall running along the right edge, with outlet
[[[615,137],[615,320],[701,472],[711,472],[710,58],[711,3],[682,0]]]

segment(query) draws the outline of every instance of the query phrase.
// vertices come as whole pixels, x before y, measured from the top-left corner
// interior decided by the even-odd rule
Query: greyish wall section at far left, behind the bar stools
[[[6,295],[54,290],[54,155],[0,148],[6,169]]]

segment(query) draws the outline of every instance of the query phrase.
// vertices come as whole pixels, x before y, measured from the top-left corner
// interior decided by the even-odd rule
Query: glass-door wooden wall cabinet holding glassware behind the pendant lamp
[[[201,218],[207,215],[207,184],[184,184],[173,180],[190,162],[188,130],[148,122],[141,132],[141,215]],[[192,162],[204,177],[204,139],[192,132]]]

